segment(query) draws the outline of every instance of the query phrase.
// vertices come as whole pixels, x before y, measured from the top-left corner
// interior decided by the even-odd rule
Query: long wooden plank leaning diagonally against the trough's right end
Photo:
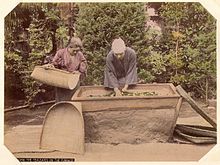
[[[217,129],[216,122],[210,118],[202,108],[186,93],[186,91],[178,85],[176,87],[177,92],[191,105],[191,107],[200,115],[202,116],[207,122],[209,122],[214,128]]]

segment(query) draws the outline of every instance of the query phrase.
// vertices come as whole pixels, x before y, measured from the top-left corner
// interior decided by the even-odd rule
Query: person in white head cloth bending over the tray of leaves
[[[128,90],[130,85],[137,84],[136,53],[126,47],[121,38],[112,42],[112,50],[106,57],[104,86],[114,89],[116,96]]]

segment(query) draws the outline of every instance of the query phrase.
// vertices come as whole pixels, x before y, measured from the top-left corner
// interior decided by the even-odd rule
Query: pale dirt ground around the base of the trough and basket
[[[216,109],[199,103],[216,120]],[[85,154],[39,150],[43,120],[51,105],[6,112],[4,143],[17,158],[74,158],[75,161],[198,161],[215,144],[142,143],[98,144],[86,143]],[[180,109],[178,124],[210,126],[187,102]],[[16,138],[15,138],[16,137]]]

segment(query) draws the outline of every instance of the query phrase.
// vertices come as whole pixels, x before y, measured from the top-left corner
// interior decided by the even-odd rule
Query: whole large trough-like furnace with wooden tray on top
[[[71,101],[82,104],[86,142],[139,144],[172,139],[182,104],[174,85],[138,84],[129,91],[157,95],[100,97],[112,92],[103,86],[81,86],[76,91]]]

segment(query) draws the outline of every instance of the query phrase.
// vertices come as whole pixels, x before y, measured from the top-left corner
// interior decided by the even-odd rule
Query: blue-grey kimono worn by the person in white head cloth
[[[110,51],[106,58],[104,86],[108,88],[123,87],[125,84],[137,84],[136,53],[127,47],[122,60]]]

